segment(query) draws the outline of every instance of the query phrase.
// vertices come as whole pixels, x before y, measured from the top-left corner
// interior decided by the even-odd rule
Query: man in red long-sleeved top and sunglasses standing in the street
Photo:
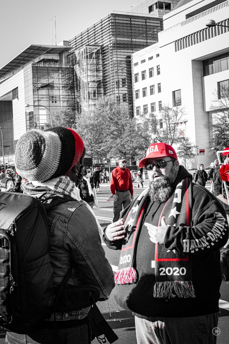
[[[121,157],[118,160],[119,166],[112,171],[111,192],[114,197],[113,220],[116,222],[122,208],[126,208],[133,201],[133,183],[130,170],[126,168],[126,158]]]

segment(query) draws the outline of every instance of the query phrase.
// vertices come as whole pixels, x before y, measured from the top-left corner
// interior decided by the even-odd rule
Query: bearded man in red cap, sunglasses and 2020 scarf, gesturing
[[[114,298],[135,315],[138,344],[216,343],[225,211],[170,145],[151,144],[139,167],[150,186],[104,231],[121,250]]]

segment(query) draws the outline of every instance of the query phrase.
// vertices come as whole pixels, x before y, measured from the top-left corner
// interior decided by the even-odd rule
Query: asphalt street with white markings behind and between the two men
[[[137,183],[134,182],[134,195],[135,197],[139,195],[142,189],[137,189]],[[148,180],[144,182],[144,189],[149,185]],[[207,184],[207,189],[210,189],[210,184]],[[100,192],[97,193],[99,201],[99,209],[93,209],[95,216],[98,218],[102,227],[107,226],[111,223],[113,215],[113,202],[107,202],[108,197],[111,196],[110,184],[100,184]],[[104,250],[106,252],[106,257],[110,262],[113,271],[117,270],[119,251],[114,251],[108,249],[105,244],[103,244]],[[220,299],[220,310],[221,315],[219,318],[218,328],[220,329],[220,334],[217,338],[217,344],[228,344],[229,343],[229,332],[228,332],[228,322],[229,322],[229,282],[222,282],[221,285],[221,299]],[[98,302],[99,308],[103,313],[105,319],[109,322],[111,327],[114,329],[119,339],[115,342],[117,344],[136,344],[135,336],[135,323],[134,317],[130,312],[121,309],[115,302],[113,294],[108,302]],[[0,339],[0,344],[4,343],[4,339]],[[97,343],[97,340],[92,342]]]

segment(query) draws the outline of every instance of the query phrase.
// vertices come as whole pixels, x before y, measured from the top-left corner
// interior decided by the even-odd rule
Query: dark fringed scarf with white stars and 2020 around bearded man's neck
[[[128,209],[125,220],[126,237],[123,239],[118,271],[115,274],[115,284],[136,283],[136,248],[146,213],[149,187],[141,193]],[[192,225],[192,183],[190,178],[183,179],[165,203],[161,218],[169,226]],[[195,297],[192,284],[191,257],[177,250],[169,251],[164,245],[155,245],[155,298],[189,298]]]

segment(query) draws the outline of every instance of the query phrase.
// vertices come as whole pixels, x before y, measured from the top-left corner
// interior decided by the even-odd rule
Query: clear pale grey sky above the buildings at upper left
[[[139,1],[140,2],[140,1]],[[30,44],[70,38],[112,11],[128,11],[137,0],[0,0],[0,68]]]

